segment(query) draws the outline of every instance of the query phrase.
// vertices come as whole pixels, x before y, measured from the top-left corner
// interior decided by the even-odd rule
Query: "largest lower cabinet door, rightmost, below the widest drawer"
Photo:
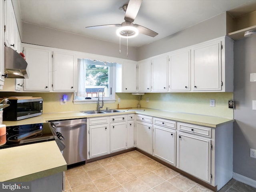
[[[177,133],[177,167],[210,183],[211,140]]]

